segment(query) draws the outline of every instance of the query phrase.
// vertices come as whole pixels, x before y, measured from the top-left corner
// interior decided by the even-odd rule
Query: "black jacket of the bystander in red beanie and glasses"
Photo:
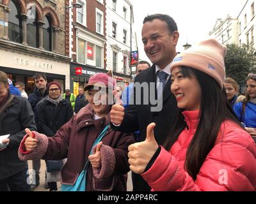
[[[60,101],[58,106],[45,99],[42,103],[36,105],[35,110],[37,130],[47,136],[54,136],[58,129],[74,115],[71,104],[64,99]]]

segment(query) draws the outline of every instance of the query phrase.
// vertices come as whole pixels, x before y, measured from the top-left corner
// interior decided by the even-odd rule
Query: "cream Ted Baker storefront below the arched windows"
[[[69,88],[70,84],[70,58],[58,54],[45,54],[37,50],[9,50],[0,47],[0,70],[4,71],[10,80],[23,82],[26,92],[30,94],[35,89],[33,76],[35,73],[45,73],[47,82],[60,82],[63,89]]]

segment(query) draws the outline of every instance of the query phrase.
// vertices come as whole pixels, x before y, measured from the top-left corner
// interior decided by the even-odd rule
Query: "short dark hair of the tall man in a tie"
[[[157,13],[153,15],[148,15],[144,18],[143,24],[145,24],[145,22],[153,21],[155,19],[163,20],[164,22],[166,22],[166,24],[168,25],[168,29],[171,33],[173,33],[174,31],[178,31],[178,27],[175,20],[173,20],[173,18],[170,17],[170,15],[166,14]]]

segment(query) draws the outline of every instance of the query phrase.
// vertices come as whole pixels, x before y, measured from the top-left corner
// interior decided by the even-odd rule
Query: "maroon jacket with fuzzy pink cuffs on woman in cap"
[[[20,144],[19,157],[23,160],[38,159],[43,156],[44,159],[50,160],[67,157],[67,163],[61,170],[61,182],[74,184],[88,160],[93,142],[109,122],[109,116],[94,120],[92,108],[88,105],[62,126],[54,137],[47,138],[35,132],[39,142],[33,152],[21,153],[24,151],[23,140]],[[134,143],[133,136],[109,128],[102,142],[100,149],[102,167],[92,171],[92,165],[89,165],[86,191],[126,191],[129,171],[127,153],[128,146]]]

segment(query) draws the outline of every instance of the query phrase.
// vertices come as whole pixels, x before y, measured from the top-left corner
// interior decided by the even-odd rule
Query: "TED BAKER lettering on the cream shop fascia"
[[[52,70],[53,66],[50,63],[47,62],[38,62],[38,61],[29,61],[28,59],[25,58],[20,58],[20,57],[15,57],[15,63],[18,64],[19,66],[33,66],[35,69],[47,69],[47,70]]]

